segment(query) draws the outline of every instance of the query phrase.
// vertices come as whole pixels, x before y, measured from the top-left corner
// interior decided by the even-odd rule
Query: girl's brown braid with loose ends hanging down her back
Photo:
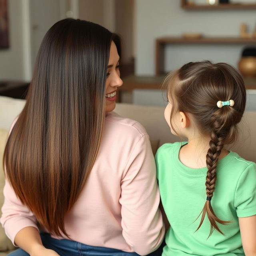
[[[216,130],[214,129],[212,131],[211,140],[209,142],[210,148],[206,155],[206,165],[208,168],[208,172],[207,172],[207,176],[206,176],[206,183],[205,183],[207,200],[204,204],[204,208],[203,208],[202,212],[200,213],[200,215],[202,214],[200,224],[199,224],[198,228],[196,229],[196,231],[197,231],[202,226],[205,214],[207,214],[207,217],[208,217],[208,219],[210,221],[210,225],[211,225],[210,234],[208,237],[210,237],[212,235],[212,232],[214,231],[214,229],[216,229],[218,232],[220,232],[222,235],[224,235],[222,233],[222,231],[218,228],[216,222],[223,224],[223,225],[230,223],[230,221],[220,220],[214,213],[214,210],[212,209],[212,205],[211,205],[211,199],[213,196],[213,192],[215,189],[215,183],[216,183],[216,179],[217,179],[216,169],[217,169],[218,158],[219,158],[221,150],[224,146],[224,141],[225,141],[225,136],[218,135]]]

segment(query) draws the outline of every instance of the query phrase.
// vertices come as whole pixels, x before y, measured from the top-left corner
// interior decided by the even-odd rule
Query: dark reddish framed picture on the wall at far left
[[[9,48],[7,0],[0,0],[0,49]]]

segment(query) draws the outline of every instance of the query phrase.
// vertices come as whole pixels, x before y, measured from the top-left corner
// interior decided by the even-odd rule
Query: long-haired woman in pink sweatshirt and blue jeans
[[[4,152],[1,223],[23,249],[10,255],[145,255],[162,242],[148,135],[111,112],[119,56],[118,36],[92,22],[46,33]]]

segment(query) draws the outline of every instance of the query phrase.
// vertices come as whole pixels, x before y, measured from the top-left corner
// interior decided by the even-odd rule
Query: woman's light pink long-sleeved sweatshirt
[[[22,228],[37,228],[36,218],[7,181],[4,196],[0,222],[14,243]],[[67,233],[72,240],[90,246],[146,255],[156,250],[164,237],[159,200],[146,130],[134,120],[108,113],[86,186],[66,216]]]

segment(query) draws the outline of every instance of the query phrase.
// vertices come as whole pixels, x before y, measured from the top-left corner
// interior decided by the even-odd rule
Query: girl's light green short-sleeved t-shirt
[[[224,236],[214,230],[206,217],[195,232],[206,202],[207,168],[192,169],[182,164],[178,154],[187,142],[167,143],[156,153],[157,178],[162,204],[171,227],[166,234],[163,256],[244,255],[238,217],[256,214],[256,164],[231,152],[218,162],[212,208],[221,220]],[[208,238],[208,239],[207,239]]]

